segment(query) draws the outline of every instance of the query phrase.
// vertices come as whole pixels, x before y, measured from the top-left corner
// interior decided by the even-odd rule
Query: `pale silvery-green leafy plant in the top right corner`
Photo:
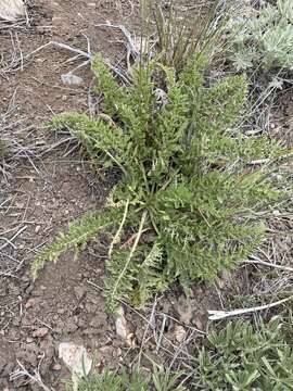
[[[232,24],[231,59],[239,70],[278,74],[293,70],[293,8],[291,0],[277,0],[247,20]]]

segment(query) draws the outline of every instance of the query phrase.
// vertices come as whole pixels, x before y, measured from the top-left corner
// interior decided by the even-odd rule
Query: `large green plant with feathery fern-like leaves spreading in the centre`
[[[280,193],[268,165],[251,162],[283,151],[265,136],[247,138],[233,129],[246,98],[245,78],[207,85],[203,70],[201,56],[179,75],[154,60],[133,71],[130,87],[122,87],[95,56],[103,115],[64,113],[50,128],[67,128],[93,164],[118,167],[122,179],[104,210],[39,253],[35,274],[47,260],[106,230],[113,237],[105,283],[110,307],[117,298],[141,305],[175,280],[186,290],[195,279],[214,281],[259,243],[264,224],[256,212]]]

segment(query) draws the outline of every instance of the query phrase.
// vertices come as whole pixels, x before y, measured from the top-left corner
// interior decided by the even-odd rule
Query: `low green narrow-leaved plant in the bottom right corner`
[[[196,390],[292,390],[292,365],[293,350],[278,317],[257,331],[249,321],[233,321],[207,336]]]

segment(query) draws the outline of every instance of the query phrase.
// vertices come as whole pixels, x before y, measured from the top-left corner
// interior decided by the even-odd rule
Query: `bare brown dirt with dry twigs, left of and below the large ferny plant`
[[[72,53],[49,47],[25,56],[51,40],[86,50],[88,37],[92,51],[119,63],[125,58],[122,37],[95,27],[106,21],[135,30],[137,8],[128,1],[36,1],[28,8],[27,24],[0,27],[1,137],[8,140],[8,156],[0,161],[1,390],[41,389],[21,373],[12,376],[20,365],[31,375],[37,370],[50,389],[62,390],[62,380],[69,377],[58,357],[63,341],[84,344],[103,367],[113,360],[130,362],[141,342],[146,346],[149,331],[156,341],[150,343],[150,354],[162,349],[171,360],[177,351],[180,358],[188,353],[178,336],[183,332],[191,349],[204,328],[206,307],[213,308],[218,301],[208,291],[203,297],[199,287],[192,306],[176,292],[157,298],[144,315],[126,307],[133,335],[129,344],[116,335],[102,290],[89,282],[103,286],[101,244],[92,243],[77,260],[68,254],[56,265],[49,264],[36,281],[31,279],[29,265],[38,248],[84,212],[102,207],[115,178],[97,179],[66,135],[55,137],[43,126],[55,113],[94,106],[89,67],[76,72],[84,80],[80,85],[68,86],[62,84],[61,75],[82,62],[68,62]],[[144,317],[150,313],[152,328]],[[157,330],[164,331],[163,341],[155,336]]]

